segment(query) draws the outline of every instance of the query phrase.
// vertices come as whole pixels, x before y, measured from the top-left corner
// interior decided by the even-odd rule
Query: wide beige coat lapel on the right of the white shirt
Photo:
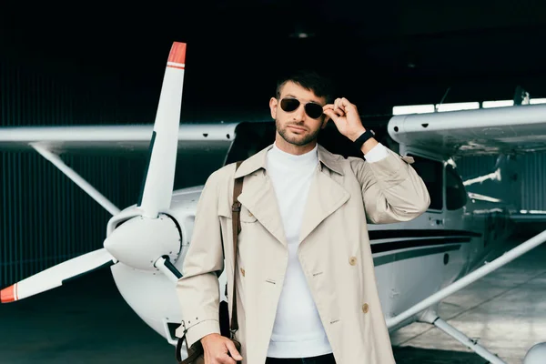
[[[349,192],[329,177],[329,170],[318,167],[308,193],[299,242],[349,200]]]

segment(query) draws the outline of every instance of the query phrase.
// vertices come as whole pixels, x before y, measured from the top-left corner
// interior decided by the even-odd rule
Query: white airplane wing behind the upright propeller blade
[[[224,166],[230,155],[238,125],[237,122],[180,123],[177,136],[177,166],[189,173],[181,175],[183,177],[177,187],[201,185],[214,170]],[[136,157],[144,163],[154,144],[153,131],[153,124],[4,126],[0,127],[0,152],[24,152],[35,148],[38,152],[42,151],[40,154],[43,154],[45,149],[61,157],[64,154]],[[100,200],[104,199],[101,197]],[[112,208],[107,209],[110,212],[114,211]]]

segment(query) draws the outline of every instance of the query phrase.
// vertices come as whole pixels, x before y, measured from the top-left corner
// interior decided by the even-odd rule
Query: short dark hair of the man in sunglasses
[[[280,98],[280,91],[287,82],[293,82],[303,88],[312,91],[316,96],[326,98],[326,103],[330,104],[334,100],[332,99],[334,93],[334,86],[331,80],[319,75],[318,72],[313,70],[298,70],[290,74],[281,76],[277,81],[277,98]]]

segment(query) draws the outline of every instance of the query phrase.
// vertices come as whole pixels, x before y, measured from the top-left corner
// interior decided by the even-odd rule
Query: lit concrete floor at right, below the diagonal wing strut
[[[508,244],[494,252],[490,260],[517,246]],[[521,364],[527,350],[546,341],[546,246],[541,245],[490,275],[446,298],[440,304],[440,317],[470,339],[510,364]],[[414,323],[391,334],[398,349],[428,349],[430,359],[414,361],[399,356],[397,363],[484,363],[440,329]],[[450,351],[450,358],[434,361],[434,350]],[[401,352],[399,352],[401,353]],[[464,353],[470,353],[469,359]],[[476,361],[471,361],[475,358]],[[458,361],[459,360],[459,361]],[[545,359],[546,363],[546,359]]]

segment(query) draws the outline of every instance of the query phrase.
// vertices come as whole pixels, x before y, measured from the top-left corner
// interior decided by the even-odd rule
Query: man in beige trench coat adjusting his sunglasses
[[[418,217],[430,197],[406,158],[366,133],[357,106],[346,98],[327,103],[327,87],[313,73],[282,79],[269,101],[274,145],[237,171],[230,164],[207,179],[177,283],[183,317],[177,336],[186,331],[189,346],[200,340],[207,364],[394,363],[367,223]],[[366,161],[318,145],[329,120],[359,143]],[[233,279],[238,177],[244,177],[235,274],[241,353],[219,334],[217,280],[224,268]]]

